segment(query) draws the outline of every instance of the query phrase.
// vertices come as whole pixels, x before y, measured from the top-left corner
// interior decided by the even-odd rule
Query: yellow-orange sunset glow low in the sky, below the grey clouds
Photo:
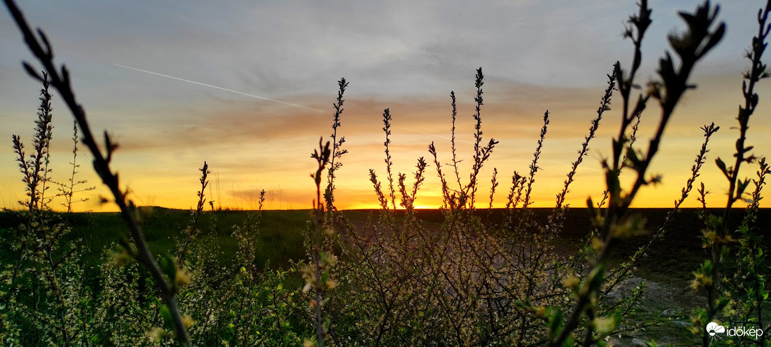
[[[719,207],[725,204],[725,179],[715,168],[717,156],[731,157],[732,143],[736,130],[730,127],[736,122],[733,96],[724,93],[733,88],[736,76],[706,76],[699,83],[700,89],[689,91],[682,107],[678,108],[675,118],[665,133],[660,155],[655,158],[651,174],[662,174],[663,183],[641,190],[634,207],[671,207],[672,201],[680,196],[682,185],[689,177],[692,160],[701,146],[703,136],[699,126],[715,121],[722,126],[710,143],[707,163],[702,175],[697,180],[705,182],[712,191],[708,195],[708,204]],[[493,167],[499,174],[497,191],[493,207],[504,207],[510,190],[511,175],[516,170],[527,174],[528,165],[533,158],[537,135],[541,126],[543,110],[523,109],[517,100],[508,99],[509,95],[524,93],[528,86],[507,85],[503,81],[492,81],[486,89],[487,99],[482,110],[484,141],[490,137],[500,141],[493,150],[492,157],[485,163],[480,177],[476,197],[476,206],[489,205],[490,178]],[[487,84],[486,84],[487,86]],[[523,89],[523,90],[519,90]],[[768,86],[763,91],[769,92]],[[595,114],[594,99],[604,88],[554,89],[552,99],[542,100],[543,107],[551,113],[551,123],[544,142],[543,153],[538,162],[533,184],[533,207],[553,207],[554,195],[563,187],[565,174],[576,160],[583,136],[588,131],[589,121]],[[489,91],[488,91],[489,90]],[[327,97],[306,97],[292,100],[305,103],[315,108],[322,108]],[[470,113],[473,106],[467,101],[469,95],[460,99],[458,120],[456,121],[456,152],[460,162],[461,184],[468,181],[469,167],[472,161],[473,120]],[[559,100],[555,102],[554,100]],[[338,172],[335,183],[336,206],[339,209],[378,208],[379,204],[372,184],[369,182],[369,169],[375,170],[382,182],[382,190],[389,196],[388,179],[385,173],[385,155],[382,142],[385,135],[380,128],[382,108],[390,107],[392,120],[392,174],[396,190],[396,205],[399,206],[399,188],[396,187],[397,173],[406,174],[408,190],[412,190],[416,159],[425,157],[429,162],[426,168],[426,180],[416,197],[419,208],[437,208],[441,205],[440,184],[433,158],[429,156],[427,145],[436,144],[439,162],[449,184],[457,185],[451,166],[449,147],[449,98],[434,99],[394,99],[391,101],[372,101],[371,98],[348,98],[342,114],[342,127],[338,134],[345,136],[344,148],[349,151],[342,157],[343,166]],[[276,107],[263,113],[254,120],[251,102],[231,103],[224,109],[206,111],[197,120],[174,130],[162,128],[137,128],[125,133],[117,133],[121,150],[116,153],[113,167],[120,172],[123,184],[130,188],[130,197],[139,205],[160,205],[173,208],[192,208],[196,204],[196,192],[200,189],[197,182],[200,172],[197,170],[207,160],[213,174],[205,193],[207,200],[214,200],[214,207],[251,210],[258,208],[258,192],[266,190],[265,209],[307,209],[311,207],[315,187],[308,175],[313,170],[314,162],[308,156],[321,135],[331,133],[332,111],[327,115],[309,112],[303,109],[284,109]],[[529,106],[530,107],[530,106]],[[518,110],[516,114],[511,109]],[[769,103],[761,103],[756,113],[768,113]],[[641,124],[638,134],[638,149],[647,145],[655,126],[657,111],[651,106]],[[590,151],[584,157],[584,163],[575,175],[575,182],[567,194],[566,203],[573,207],[585,207],[588,197],[595,201],[601,199],[604,181],[601,178],[602,158],[610,151],[610,137],[617,130],[618,113],[611,110],[601,122],[597,137],[590,144]],[[771,148],[771,138],[761,136],[771,132],[771,121],[753,120],[749,132],[749,143],[756,151]],[[62,122],[62,120],[55,120]],[[61,124],[61,123],[59,123]],[[167,133],[167,135],[163,135]],[[142,136],[140,136],[142,135]],[[56,134],[53,144],[52,175],[55,180],[71,171],[67,161],[66,140],[63,134]],[[759,153],[761,154],[761,153]],[[76,211],[114,211],[113,204],[98,205],[99,197],[108,197],[109,193],[99,186],[99,179],[89,167],[88,157],[79,157],[81,179],[89,180],[98,189],[82,194],[89,197],[89,202],[76,204]],[[13,159],[5,154],[0,158],[5,163]],[[742,170],[753,174],[756,167],[744,166]],[[23,185],[20,177],[12,170],[3,171],[2,182],[5,196],[0,203],[5,207],[15,207],[16,200],[21,200]],[[622,176],[622,181],[630,177]],[[53,192],[55,190],[49,190]],[[683,207],[698,207],[695,191],[686,200]],[[62,208],[61,199],[55,199],[52,207]],[[765,206],[765,205],[764,205]],[[209,205],[207,204],[207,208]]]

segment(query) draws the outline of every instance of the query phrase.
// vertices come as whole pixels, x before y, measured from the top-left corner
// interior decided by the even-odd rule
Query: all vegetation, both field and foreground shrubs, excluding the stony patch
[[[661,180],[648,167],[661,155],[659,143],[682,96],[694,88],[689,82],[693,70],[726,30],[719,7],[709,2],[681,13],[684,29],[668,35],[672,51],[658,60],[658,76],[647,84],[637,75],[651,9],[640,2],[625,27],[633,46],[631,63],[610,67],[607,87],[598,91],[596,116],[577,143],[553,208],[531,207],[550,125],[547,110],[526,170],[503,179],[493,168],[492,177],[483,177],[498,141],[483,134],[480,68],[473,85],[476,124],[470,158],[456,156],[455,93],[449,95],[450,152],[440,153],[429,143],[427,156],[416,159],[412,173],[392,170],[394,115],[383,110],[383,161],[369,171],[378,211],[335,207],[336,188],[345,184],[335,178],[348,153],[342,129],[348,81],[340,79],[332,134],[322,136],[311,153],[316,169],[308,187],[315,188],[315,200],[309,211],[281,212],[262,211],[264,191],[258,211],[217,211],[205,194],[210,169],[204,158],[194,210],[133,204],[111,165],[113,156],[120,155],[118,143],[109,133],[97,142],[68,69],[54,62],[52,42],[42,30],[32,31],[12,0],[5,4],[38,59],[40,67],[23,66],[42,89],[29,148],[21,136],[12,137],[27,199],[18,211],[3,212],[0,224],[2,345],[771,342],[767,333],[729,336],[708,329],[714,322],[771,331],[768,241],[763,239],[769,218],[759,208],[769,164],[749,144],[749,120],[759,103],[755,86],[769,76],[761,56],[771,29],[771,1],[759,9],[758,34],[748,38],[749,69],[740,76],[744,98],[738,124],[722,130],[714,123],[702,126],[704,141],[694,149],[681,196],[672,208],[655,213],[641,213],[631,204],[640,190]],[[49,87],[76,124],[72,172],[64,183],[56,183],[48,168]],[[585,209],[571,209],[565,197],[611,105],[620,110],[621,122],[611,139],[612,153],[602,160],[605,186]],[[658,124],[646,140],[637,134],[643,118]],[[738,133],[733,157],[708,160],[712,136],[729,131]],[[96,173],[113,194],[103,203],[117,204],[119,213],[71,212],[72,204],[82,201],[81,193],[91,189],[77,177],[80,147],[91,154]],[[701,170],[713,167],[712,161],[726,177],[726,187],[699,182]],[[460,174],[466,171],[462,166],[470,172],[467,177]],[[429,174],[441,182],[443,204],[438,211],[416,210]],[[490,192],[479,189],[483,180],[491,180]],[[492,208],[497,189],[507,191],[503,209]],[[725,208],[706,208],[710,190],[728,192]],[[703,208],[683,213],[682,202],[693,196]],[[63,201],[67,212],[52,211],[55,201]],[[706,252],[684,241],[694,234],[672,235],[684,225],[680,218],[700,226],[700,232],[689,230],[698,232]],[[671,245],[677,242],[688,246],[672,255]],[[690,275],[656,277],[667,266],[664,254],[691,266]],[[641,268],[660,281],[688,282],[694,293],[689,297],[698,301],[665,313],[661,301],[651,304],[651,289],[658,285],[648,288],[640,281]]]

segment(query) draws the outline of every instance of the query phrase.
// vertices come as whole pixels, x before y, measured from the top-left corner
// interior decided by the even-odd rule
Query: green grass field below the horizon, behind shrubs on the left
[[[153,254],[169,254],[177,251],[175,238],[183,238],[183,230],[190,224],[190,211],[163,207],[140,209],[140,224]],[[197,242],[216,243],[221,249],[221,262],[233,257],[237,249],[233,233],[234,225],[244,222],[251,211],[205,212],[199,221],[201,234]],[[127,236],[128,228],[117,212],[55,214],[69,222],[72,233],[69,238],[82,238],[86,244],[86,263],[98,266],[104,250],[119,250],[118,242]],[[263,211],[258,231],[257,264],[271,264],[274,268],[286,268],[289,261],[305,258],[304,231],[308,211]],[[0,229],[3,234],[22,224],[15,212],[0,212]],[[0,258],[8,259],[8,249],[3,248]]]

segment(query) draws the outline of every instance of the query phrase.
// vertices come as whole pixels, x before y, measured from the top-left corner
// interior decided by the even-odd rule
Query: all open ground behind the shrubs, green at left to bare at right
[[[532,209],[534,220],[545,223],[551,209]],[[669,209],[636,209],[631,211],[645,218],[646,230],[653,230],[662,224]],[[742,211],[734,211],[734,220]],[[495,225],[503,219],[503,210],[479,211],[480,217]],[[237,266],[235,261],[237,240],[234,238],[234,226],[244,224],[247,216],[258,214],[256,211],[210,211],[202,214],[198,225],[201,229],[197,243],[204,247],[217,249],[220,266],[231,268]],[[259,218],[258,243],[255,263],[258,267],[273,270],[286,270],[291,262],[307,258],[304,242],[308,238],[308,221],[310,211],[262,211]],[[352,224],[362,226],[374,221],[379,211],[356,210],[344,211],[345,218]],[[399,214],[397,214],[399,216]],[[125,237],[127,230],[118,213],[76,213],[57,214],[56,217],[66,221],[72,227],[70,238],[82,238],[86,244],[86,282],[96,284],[99,276],[96,269],[109,257],[106,250],[120,251],[119,239]],[[55,218],[56,218],[55,217]],[[163,207],[140,208],[140,223],[147,241],[154,254],[173,254],[178,239],[183,238],[183,229],[190,224],[190,211],[173,210]],[[403,214],[400,216],[403,217]],[[427,230],[438,230],[436,226],[442,223],[443,215],[438,210],[416,211]],[[581,248],[586,238],[586,232],[591,229],[588,211],[575,208],[567,211],[566,223],[560,238],[556,239],[554,250],[563,254],[574,254]],[[0,234],[12,233],[23,221],[18,213],[0,212]],[[758,215],[759,225],[771,222],[771,210],[762,209]],[[693,336],[688,330],[688,317],[694,305],[702,305],[701,295],[694,295],[690,289],[693,280],[692,271],[699,267],[703,259],[709,256],[702,248],[702,223],[699,221],[698,209],[684,209],[672,220],[662,242],[655,244],[648,257],[638,263],[634,277],[628,285],[621,285],[618,295],[625,295],[631,286],[638,281],[648,281],[645,297],[641,299],[638,312],[632,322],[640,325],[651,325],[647,329],[633,332],[622,332],[613,339],[621,345],[653,339],[673,345],[687,345],[693,342]],[[357,230],[365,230],[357,227]],[[640,234],[633,238],[618,240],[617,247],[608,258],[614,266],[628,259],[642,244],[649,240],[648,234]],[[769,240],[765,241],[766,246]],[[216,247],[212,247],[216,244]],[[8,248],[2,248],[0,261],[11,263],[14,253]],[[728,269],[732,271],[732,269]],[[233,273],[233,269],[227,271]],[[302,285],[301,278],[285,278],[284,286],[290,290],[298,290]]]

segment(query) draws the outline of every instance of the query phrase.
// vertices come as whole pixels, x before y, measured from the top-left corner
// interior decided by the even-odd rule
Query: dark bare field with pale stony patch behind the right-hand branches
[[[551,209],[534,209],[534,218],[541,223],[546,221]],[[640,214],[647,221],[646,226],[652,234],[662,225],[669,209],[636,209],[631,213]],[[719,211],[711,211],[713,214]],[[742,210],[732,211],[729,220],[741,221]],[[360,214],[365,215],[362,211]],[[483,212],[486,221],[496,221],[503,211]],[[375,214],[376,216],[376,214]],[[439,211],[417,211],[416,216],[426,224],[439,225],[442,216]],[[567,213],[565,227],[555,244],[555,251],[561,254],[574,254],[581,247],[585,235],[591,226],[584,209],[571,209]],[[376,218],[376,217],[375,217]],[[759,211],[758,225],[768,225],[771,222],[771,209]],[[734,224],[735,224],[734,223]],[[363,223],[359,223],[363,224]],[[645,258],[636,265],[629,278],[618,285],[611,295],[614,298],[628,296],[631,291],[645,281],[645,293],[642,295],[635,311],[628,315],[629,322],[621,327],[621,332],[608,338],[616,346],[645,346],[646,342],[655,341],[657,345],[699,345],[701,336],[692,335],[690,328],[691,312],[695,308],[704,307],[704,295],[694,293],[691,288],[693,271],[697,270],[709,254],[702,248],[702,221],[699,220],[699,210],[684,209],[676,214],[666,227],[661,241],[654,244]],[[357,225],[361,227],[362,225]],[[649,235],[616,240],[608,254],[611,267],[628,260],[631,254],[642,244],[648,243]],[[771,238],[764,240],[769,247]]]

